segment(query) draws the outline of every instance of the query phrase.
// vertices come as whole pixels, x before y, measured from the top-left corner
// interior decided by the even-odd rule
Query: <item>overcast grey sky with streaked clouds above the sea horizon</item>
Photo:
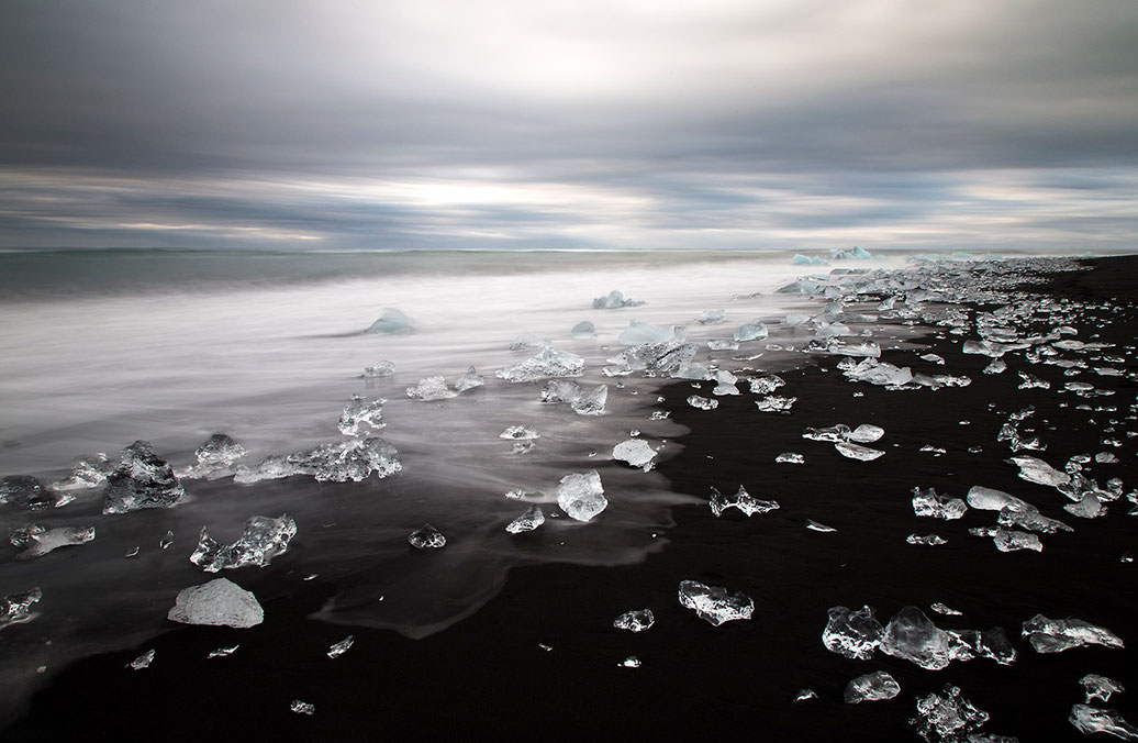
[[[1133,0],[0,0],[0,249],[1136,236]]]

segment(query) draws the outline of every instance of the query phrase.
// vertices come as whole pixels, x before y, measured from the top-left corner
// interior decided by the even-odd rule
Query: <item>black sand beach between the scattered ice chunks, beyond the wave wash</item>
[[[1138,298],[1138,258],[1088,265],[1095,270],[1059,275],[1039,291],[1121,300],[1122,312],[1095,311],[1074,323],[1077,337],[1099,333],[1096,340],[1133,345],[1138,314],[1129,302]],[[1125,419],[1138,385],[1089,373],[1066,378],[1062,369],[1026,364],[1022,356],[1008,358],[1008,372],[987,375],[981,370],[990,360],[962,354],[960,341],[950,335],[927,338],[945,366],[922,362],[913,352],[883,355],[915,371],[971,377],[972,385],[960,389],[888,391],[853,385],[834,369],[838,357],[823,357],[783,374],[787,385],[780,391],[799,398],[789,415],[758,412],[756,396],[745,391],[719,398],[718,410],[704,412],[684,404],[695,391],[686,383],[666,390],[666,407],[692,429],[681,440],[683,452],[660,467],[675,489],[703,497],[711,486],[734,492],[742,484],[756,497],[776,500],[782,507],[775,512],[748,519],[728,511],[715,518],[703,506],[678,507],[676,527],[661,535],[669,544],[643,564],[516,569],[483,610],[421,641],[308,619],[336,587],[319,578],[302,581],[300,568],[283,555],[264,570],[237,576],[261,598],[263,625],[248,630],[172,626],[146,645],[88,658],[35,695],[26,717],[2,740],[909,741],[918,740],[907,724],[915,699],[946,683],[958,685],[991,715],[986,732],[1021,741],[1081,740],[1066,721],[1071,704],[1082,701],[1080,677],[1103,674],[1138,691],[1138,565],[1120,561],[1138,548],[1138,517],[1125,515],[1131,504],[1124,500],[1094,521],[1064,513],[1065,500],[1055,490],[1016,477],[1006,461],[1012,453],[996,434],[1007,413],[1033,404],[1038,412],[1025,427],[1034,427],[1048,448],[1029,454],[1062,467],[1072,454],[1107,448],[1100,444],[1104,429],[1110,419],[1119,420],[1111,435],[1123,446],[1111,451],[1121,462],[1091,465],[1091,474],[1100,482],[1120,477],[1127,490],[1133,489],[1138,439],[1125,430],[1138,430],[1138,422]],[[1131,356],[1124,366],[1136,371],[1138,362]],[[1079,379],[1118,393],[1085,401],[1054,389],[1019,390],[1017,369],[1053,387]],[[864,396],[855,397],[856,391]],[[1082,403],[1118,412],[1078,411]],[[884,438],[873,446],[885,449],[885,456],[857,462],[828,444],[801,438],[805,427],[839,422],[884,428]],[[946,453],[921,452],[924,445]],[[982,452],[967,451],[974,446]],[[802,453],[806,463],[776,464],[781,452]],[[1041,554],[1005,554],[990,539],[967,534],[970,527],[992,526],[991,512],[970,511],[948,522],[914,517],[914,486],[963,497],[973,485],[1016,494],[1075,531],[1042,536]],[[838,533],[808,530],[807,519]],[[931,531],[948,544],[905,542],[912,533]],[[745,592],[754,598],[753,618],[718,628],[698,619],[676,601],[684,579]],[[938,601],[964,617],[932,612],[929,605]],[[838,604],[869,604],[882,622],[914,604],[943,628],[998,625],[1020,659],[1011,667],[987,659],[954,662],[941,671],[882,654],[847,660],[820,642],[826,610]],[[643,608],[655,613],[652,629],[634,635],[612,628],[618,614]],[[1037,654],[1020,638],[1021,622],[1036,613],[1102,625],[1128,647]],[[349,633],[355,645],[338,659],[327,658],[328,646]],[[206,659],[209,651],[237,643],[233,655]],[[156,649],[150,668],[124,668],[150,647]],[[643,666],[618,667],[628,655]],[[874,670],[892,674],[901,694],[844,704],[846,683]],[[819,699],[794,702],[801,687],[815,690]],[[292,700],[313,703],[315,715],[290,712]],[[1133,692],[1112,697],[1107,707],[1138,721]]]

